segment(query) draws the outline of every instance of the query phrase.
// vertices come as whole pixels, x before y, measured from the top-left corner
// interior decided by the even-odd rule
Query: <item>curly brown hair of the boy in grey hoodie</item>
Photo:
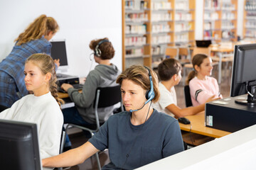
[[[98,40],[92,40],[90,42],[90,45],[89,45],[90,49],[95,52],[95,47],[102,40],[109,40],[109,39],[108,38],[102,38],[102,39],[98,39]],[[112,43],[110,41],[109,42],[103,42],[102,44],[100,44],[100,46],[98,48],[101,51],[100,58],[102,60],[110,60],[114,57],[114,47],[112,46]]]

